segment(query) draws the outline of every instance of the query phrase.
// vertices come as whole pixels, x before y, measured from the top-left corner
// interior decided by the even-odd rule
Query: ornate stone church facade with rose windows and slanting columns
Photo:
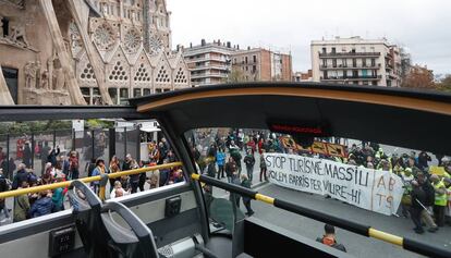
[[[166,0],[0,0],[0,105],[123,105],[190,87]]]

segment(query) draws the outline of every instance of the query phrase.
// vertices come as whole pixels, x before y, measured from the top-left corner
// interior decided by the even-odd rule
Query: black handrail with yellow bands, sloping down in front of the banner
[[[222,188],[222,189],[226,189],[232,193],[236,193],[236,194],[253,198],[255,200],[263,201],[265,204],[272,205],[277,208],[280,208],[280,209],[283,209],[283,210],[287,210],[287,211],[290,211],[290,212],[293,212],[300,216],[304,216],[304,217],[307,217],[307,218],[310,218],[317,221],[321,221],[325,223],[333,224],[343,230],[348,230],[348,231],[351,231],[359,235],[373,237],[373,238],[380,239],[380,241],[383,241],[383,242],[387,242],[387,243],[390,243],[397,246],[401,246],[402,248],[410,250],[410,251],[414,251],[414,253],[430,256],[430,257],[442,257],[442,258],[451,257],[450,250],[435,247],[429,244],[420,243],[418,241],[411,239],[407,237],[401,237],[398,235],[386,233],[383,231],[378,231],[369,225],[359,224],[354,221],[345,220],[339,217],[334,217],[334,216],[331,216],[325,212],[310,209],[308,207],[302,207],[294,202],[290,202],[290,201],[282,200],[279,198],[273,198],[270,196],[258,194],[258,192],[249,189],[249,188],[226,183],[226,182],[222,182],[222,181],[219,181],[219,180],[206,176],[206,175],[192,174],[191,177],[195,181],[199,181],[199,182],[212,185],[212,186],[217,186],[219,188]]]

